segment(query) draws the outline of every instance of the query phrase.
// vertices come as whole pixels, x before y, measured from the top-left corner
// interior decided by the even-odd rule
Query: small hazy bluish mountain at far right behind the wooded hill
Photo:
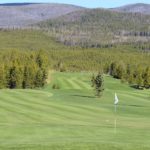
[[[112,10],[119,12],[131,12],[150,15],[150,4],[137,3],[118,8],[112,8]]]

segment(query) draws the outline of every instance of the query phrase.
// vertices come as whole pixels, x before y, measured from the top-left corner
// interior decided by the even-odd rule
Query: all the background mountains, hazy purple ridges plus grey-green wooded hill
[[[136,13],[135,13],[136,12]],[[0,28],[40,28],[66,45],[100,47],[150,41],[150,5],[87,9],[55,3],[0,5]]]

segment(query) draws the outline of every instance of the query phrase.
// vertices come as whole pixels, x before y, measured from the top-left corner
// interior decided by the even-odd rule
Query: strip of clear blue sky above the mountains
[[[0,3],[18,3],[18,2],[66,3],[89,8],[96,8],[96,7],[112,8],[132,3],[150,4],[150,0],[0,0]]]

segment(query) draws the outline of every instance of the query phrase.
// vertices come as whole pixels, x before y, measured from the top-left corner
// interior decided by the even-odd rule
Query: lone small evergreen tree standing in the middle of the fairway
[[[92,86],[96,91],[96,96],[101,97],[104,91],[104,80],[103,80],[102,73],[99,72],[96,77],[94,77],[93,75],[91,82],[92,82]]]

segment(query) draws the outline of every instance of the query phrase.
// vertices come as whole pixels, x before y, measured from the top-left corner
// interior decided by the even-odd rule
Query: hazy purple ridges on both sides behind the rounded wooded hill
[[[96,8],[95,8],[96,9]],[[97,8],[118,13],[141,13],[150,15],[150,4],[137,3],[118,8]],[[27,27],[47,19],[55,19],[72,12],[93,10],[81,6],[59,3],[3,3],[0,4],[0,28]]]

